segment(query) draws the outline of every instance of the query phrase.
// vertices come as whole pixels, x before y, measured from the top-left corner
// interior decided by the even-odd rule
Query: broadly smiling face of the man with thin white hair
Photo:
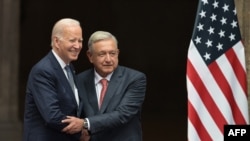
[[[53,49],[66,63],[75,61],[82,49],[82,29],[80,26],[67,26],[60,36],[53,36]]]

